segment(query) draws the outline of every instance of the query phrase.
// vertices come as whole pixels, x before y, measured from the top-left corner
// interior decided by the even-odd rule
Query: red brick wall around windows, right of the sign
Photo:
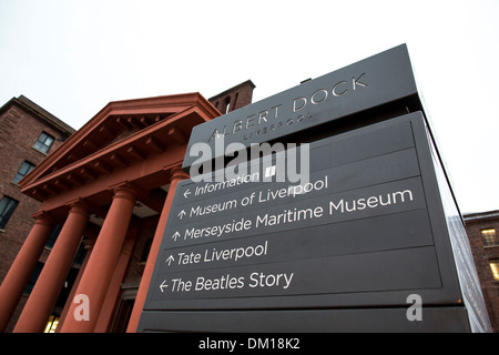
[[[481,284],[481,291],[489,312],[490,323],[493,331],[499,332],[499,282],[495,281],[490,271],[489,262],[499,260],[499,246],[485,247],[480,231],[495,227],[499,233],[499,219],[467,221],[466,231],[477,265],[477,273]]]

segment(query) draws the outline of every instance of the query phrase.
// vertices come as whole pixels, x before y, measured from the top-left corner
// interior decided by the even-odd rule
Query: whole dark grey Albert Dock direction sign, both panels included
[[[216,140],[235,143],[248,134],[253,140],[240,142],[248,149],[249,142],[271,136],[310,143],[306,155],[293,146],[266,164],[263,158],[238,160],[238,173],[224,163],[203,179],[179,183],[139,331],[490,329],[472,261],[462,252],[456,256],[459,231],[449,229],[442,199],[455,203],[424,113],[391,116],[400,104],[417,108],[407,50],[378,55],[366,60],[366,68],[360,62],[347,69],[357,74],[340,70],[344,80],[325,80],[338,75],[334,72],[193,132],[191,148],[204,138],[214,151]],[[389,73],[400,70],[391,79],[403,79],[400,85],[408,88],[403,94],[376,88],[377,78],[390,78],[380,74],[388,59],[400,67]],[[368,89],[376,100],[354,98],[354,91]],[[355,108],[335,103],[347,93]],[[286,101],[289,126],[286,119],[278,121]],[[387,108],[383,119],[371,120],[381,105]],[[352,116],[355,110],[358,115]],[[338,125],[344,119],[338,112],[355,128]],[[316,126],[327,126],[330,134],[315,139]],[[338,133],[339,126],[347,129]],[[187,155],[184,168],[198,163]],[[220,156],[212,154],[210,164]],[[296,174],[303,163],[306,176],[286,178],[289,166]],[[416,316],[414,300],[420,303]]]

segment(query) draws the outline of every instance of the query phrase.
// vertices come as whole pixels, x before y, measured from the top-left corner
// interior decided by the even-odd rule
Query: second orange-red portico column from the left
[[[16,324],[14,333],[43,332],[77,254],[88,220],[88,206],[80,201],[72,203],[68,219]]]

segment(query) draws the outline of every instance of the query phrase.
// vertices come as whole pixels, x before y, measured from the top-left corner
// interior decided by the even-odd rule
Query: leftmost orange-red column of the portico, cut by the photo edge
[[[37,221],[0,286],[0,333],[6,331],[53,227],[43,212],[33,216]]]

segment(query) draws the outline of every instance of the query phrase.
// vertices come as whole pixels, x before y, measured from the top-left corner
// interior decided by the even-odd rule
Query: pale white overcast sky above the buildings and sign
[[[461,212],[499,210],[498,18],[498,0],[0,0],[0,105],[79,129],[110,101],[248,79],[256,102],[407,43]]]

